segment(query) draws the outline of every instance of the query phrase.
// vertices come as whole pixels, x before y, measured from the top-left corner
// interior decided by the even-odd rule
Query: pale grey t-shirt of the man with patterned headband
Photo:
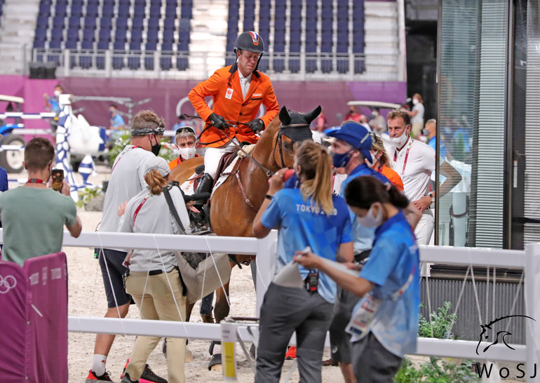
[[[116,157],[105,193],[100,231],[118,231],[118,207],[146,187],[144,173],[154,159],[152,152],[133,145],[126,146]]]

